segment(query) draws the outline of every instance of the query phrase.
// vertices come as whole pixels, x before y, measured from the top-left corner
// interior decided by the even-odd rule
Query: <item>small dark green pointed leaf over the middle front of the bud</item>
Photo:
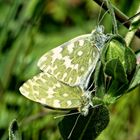
[[[105,73],[120,83],[127,83],[127,76],[124,67],[119,59],[108,61],[104,68]]]

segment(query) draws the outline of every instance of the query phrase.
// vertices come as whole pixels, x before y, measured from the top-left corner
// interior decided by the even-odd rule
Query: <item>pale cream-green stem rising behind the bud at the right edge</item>
[[[140,12],[140,4],[138,6],[138,9],[137,9],[137,12],[136,13],[139,13]],[[135,27],[135,25],[133,23],[137,22],[140,20],[140,16],[137,16],[135,17],[133,20],[132,20],[132,24],[131,26],[129,27],[130,29],[130,32],[128,32],[125,36],[125,41],[126,41],[126,44],[127,46],[130,45],[131,41],[133,40],[133,37],[137,31],[137,28]],[[134,28],[134,29],[133,29]]]

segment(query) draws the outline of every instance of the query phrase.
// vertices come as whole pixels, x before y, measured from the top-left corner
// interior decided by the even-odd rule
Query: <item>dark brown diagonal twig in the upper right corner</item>
[[[95,1],[99,6],[102,5],[102,8],[104,10],[108,10],[108,7],[107,7],[107,4],[104,2],[104,0],[93,0]],[[118,8],[116,8],[114,5],[112,5],[113,9],[114,9],[114,13],[115,13],[115,16],[116,16],[116,19],[118,21],[120,21],[121,23],[124,23],[123,25],[126,27],[126,28],[129,28],[130,25],[131,25],[131,22],[129,21],[129,17],[127,17],[124,13],[122,13]],[[137,31],[135,32],[135,35],[137,37],[140,38],[140,29],[137,29]]]

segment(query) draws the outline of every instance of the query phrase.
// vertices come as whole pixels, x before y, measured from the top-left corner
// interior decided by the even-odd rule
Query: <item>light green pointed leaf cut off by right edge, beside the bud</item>
[[[133,79],[129,85],[128,92],[140,84],[140,65],[137,66]]]

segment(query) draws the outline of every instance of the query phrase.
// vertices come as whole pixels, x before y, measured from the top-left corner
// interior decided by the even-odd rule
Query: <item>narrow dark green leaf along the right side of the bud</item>
[[[126,73],[131,74],[132,71],[136,68],[136,56],[129,47],[126,47],[124,57],[125,57]]]

